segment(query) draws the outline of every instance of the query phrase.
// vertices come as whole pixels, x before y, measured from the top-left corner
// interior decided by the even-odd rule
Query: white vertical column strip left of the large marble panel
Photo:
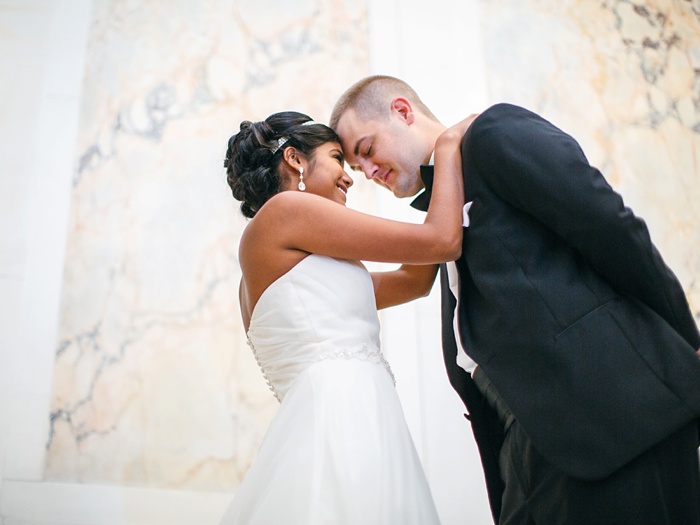
[[[9,352],[12,403],[4,472],[5,478],[22,480],[43,476],[90,2],[37,2],[36,9],[48,21],[46,54],[28,148],[26,259],[17,340]]]

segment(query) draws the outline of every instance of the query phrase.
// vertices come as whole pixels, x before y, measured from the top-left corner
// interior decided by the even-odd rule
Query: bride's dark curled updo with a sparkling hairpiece
[[[285,148],[293,146],[311,158],[320,145],[339,142],[331,128],[309,122],[311,117],[296,111],[275,113],[261,122],[241,122],[240,131],[228,141],[224,167],[233,197],[241,201],[243,215],[254,217],[282,189],[279,165]]]

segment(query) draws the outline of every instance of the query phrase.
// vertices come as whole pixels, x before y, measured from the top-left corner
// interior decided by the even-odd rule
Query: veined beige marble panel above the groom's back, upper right
[[[489,95],[581,142],[700,323],[700,2],[482,1]]]

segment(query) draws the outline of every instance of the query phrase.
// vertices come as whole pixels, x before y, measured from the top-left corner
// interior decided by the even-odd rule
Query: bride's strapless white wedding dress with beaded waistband
[[[439,523],[362,265],[306,257],[260,297],[248,342],[280,407],[221,525]]]

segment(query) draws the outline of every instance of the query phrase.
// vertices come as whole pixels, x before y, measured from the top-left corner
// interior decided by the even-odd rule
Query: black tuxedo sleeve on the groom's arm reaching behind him
[[[464,147],[499,198],[556,232],[614,289],[645,303],[700,347],[683,289],[644,221],[571,136],[530,111],[499,104],[474,122]]]

